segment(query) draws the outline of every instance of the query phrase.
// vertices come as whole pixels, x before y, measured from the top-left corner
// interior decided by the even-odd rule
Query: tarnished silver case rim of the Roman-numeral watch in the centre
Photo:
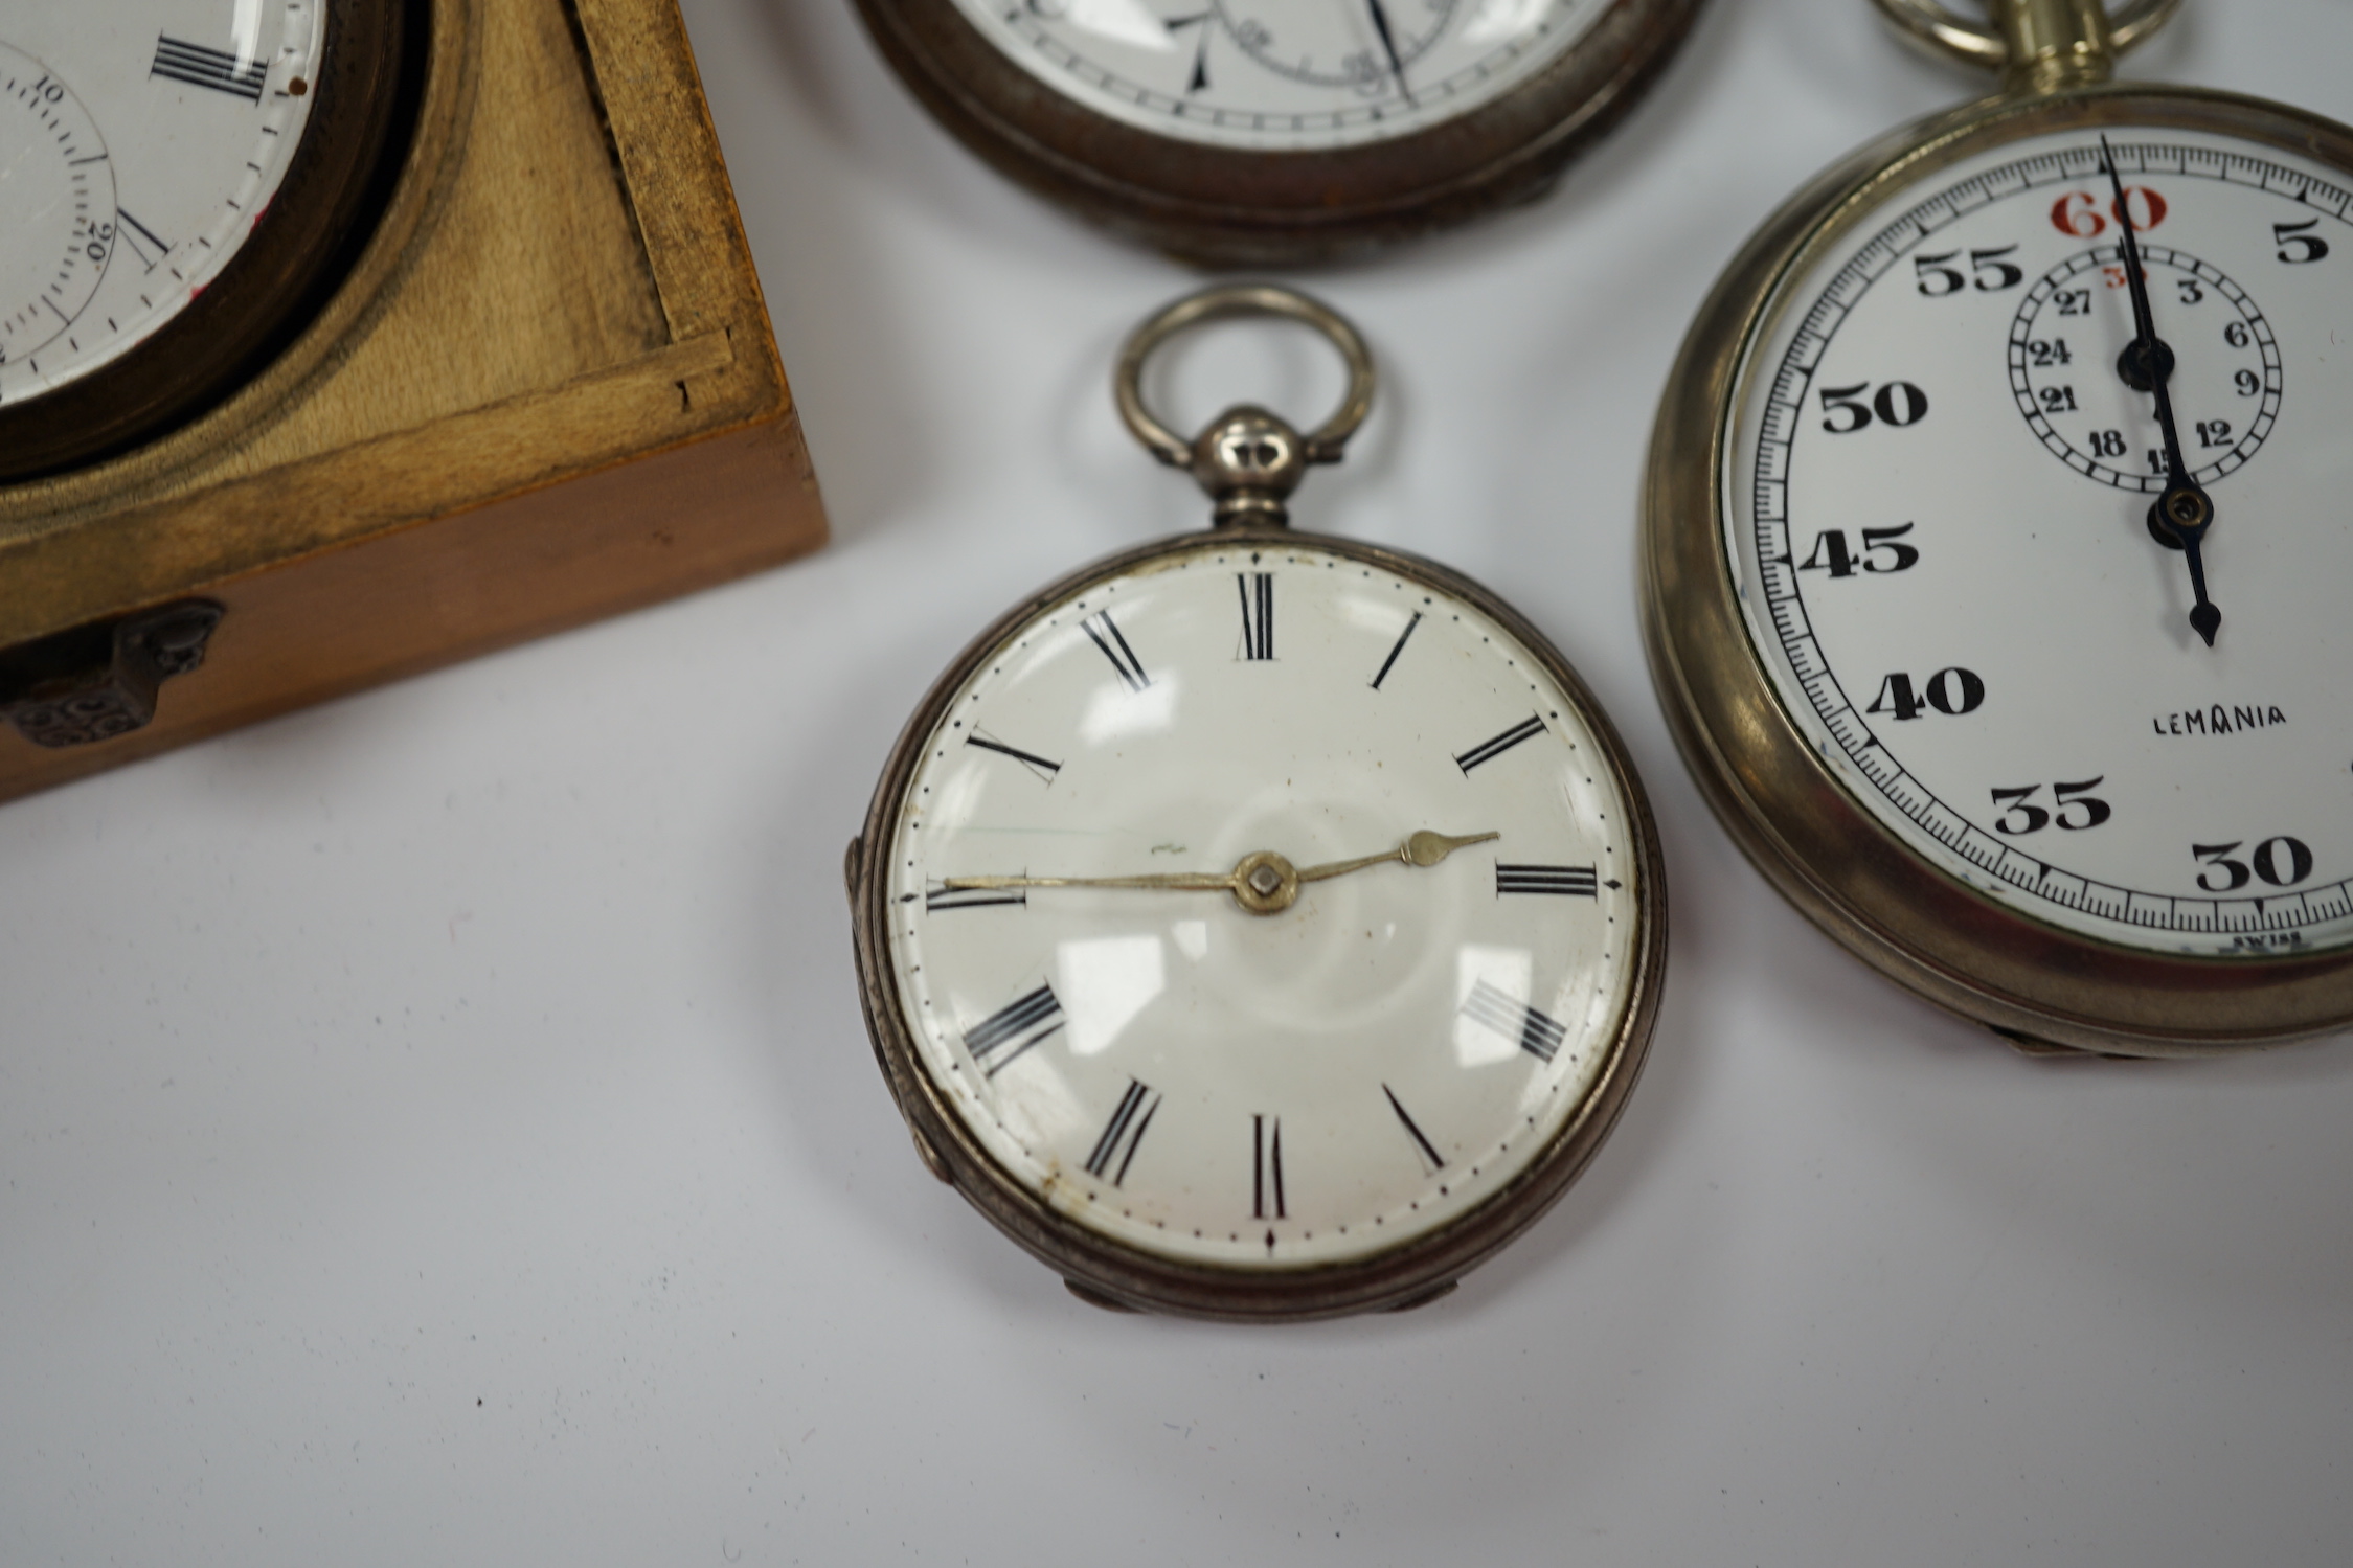
[[[962,1117],[951,1110],[932,1074],[925,1072],[915,1034],[899,1004],[899,980],[892,973],[889,959],[889,867],[885,865],[885,856],[889,853],[904,797],[922,762],[925,745],[932,731],[946,719],[962,684],[998,656],[1033,616],[1113,576],[1146,567],[1165,555],[1200,550],[1212,541],[1240,548],[1261,543],[1327,550],[1362,567],[1391,571],[1407,581],[1426,583],[1438,592],[1454,595],[1518,637],[1520,646],[1539,661],[1544,672],[1560,684],[1569,701],[1577,703],[1586,724],[1591,724],[1619,797],[1626,802],[1628,837],[1633,839],[1640,877],[1638,886],[1647,891],[1633,936],[1635,961],[1626,1011],[1617,1032],[1607,1041],[1595,1041],[1602,1051],[1602,1067],[1595,1074],[1593,1091],[1553,1143],[1527,1161],[1518,1180],[1452,1225],[1400,1248],[1329,1267],[1228,1269],[1155,1258],[1087,1229],[1042,1201],[988,1157]],[[1577,1180],[1602,1140],[1609,1138],[1609,1128],[1617,1126],[1619,1112],[1626,1107],[1626,1095],[1633,1093],[1642,1058],[1649,1051],[1652,1027],[1659,1018],[1661,978],[1666,973],[1666,865],[1659,853],[1659,830],[1649,816],[1642,780],[1633,771],[1624,741],[1619,741],[1617,729],[1612,729],[1600,703],[1577,677],[1577,670],[1546,642],[1544,632],[1466,576],[1417,555],[1322,534],[1299,534],[1287,527],[1226,527],[1214,534],[1179,534],[1139,545],[1082,567],[998,616],[932,684],[932,691],[899,733],[882,769],[882,780],[875,785],[873,804],[866,811],[866,825],[849,842],[845,879],[849,884],[852,943],[856,947],[859,1006],[866,1013],[866,1034],[873,1041],[875,1060],[882,1065],[882,1079],[889,1084],[892,1100],[899,1105],[899,1114],[906,1117],[908,1131],[915,1138],[915,1152],[922,1157],[922,1164],[932,1175],[965,1194],[974,1208],[1033,1258],[1059,1272],[1075,1295],[1099,1307],[1129,1312],[1165,1312],[1221,1321],[1308,1321],[1355,1312],[1402,1312],[1447,1295],[1466,1272],[1492,1258],[1560,1201],[1560,1194],[1569,1190],[1569,1182]]]

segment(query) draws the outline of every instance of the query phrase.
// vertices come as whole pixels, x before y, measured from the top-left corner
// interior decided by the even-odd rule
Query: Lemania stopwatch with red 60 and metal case
[[[2172,0],[1880,0],[2007,89],[1748,242],[1645,635],[1765,875],[2028,1048],[2353,1023],[2353,132],[2106,82]]]

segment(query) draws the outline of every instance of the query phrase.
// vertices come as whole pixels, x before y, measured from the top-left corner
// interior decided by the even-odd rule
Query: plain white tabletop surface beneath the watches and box
[[[2137,75],[2353,118],[2344,0],[2186,9]],[[2353,1048],[2012,1056],[1748,870],[1642,665],[1699,296],[1977,82],[1864,0],[1718,0],[1553,200],[1313,280],[1386,386],[1301,522],[1584,670],[1673,961],[1624,1124],[1511,1253],[1419,1314],[1224,1328],[1073,1302],[925,1175],[840,884],[965,637],[1202,520],[1106,395],[1195,280],[974,162],[845,2],[687,19],[835,543],[0,809],[0,1561],[2353,1554]],[[1162,393],[1334,386],[1228,329]]]

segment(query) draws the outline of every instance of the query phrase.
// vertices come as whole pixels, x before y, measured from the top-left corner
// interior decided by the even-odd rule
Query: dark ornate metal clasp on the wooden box
[[[181,599],[0,651],[0,715],[33,745],[89,745],[144,729],[155,693],[205,663],[226,611]]]

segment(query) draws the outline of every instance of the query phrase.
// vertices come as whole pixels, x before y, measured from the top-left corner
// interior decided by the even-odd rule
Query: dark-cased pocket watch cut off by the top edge
[[[859,0],[972,150],[1179,256],[1297,263],[1539,195],[1699,0]]]

